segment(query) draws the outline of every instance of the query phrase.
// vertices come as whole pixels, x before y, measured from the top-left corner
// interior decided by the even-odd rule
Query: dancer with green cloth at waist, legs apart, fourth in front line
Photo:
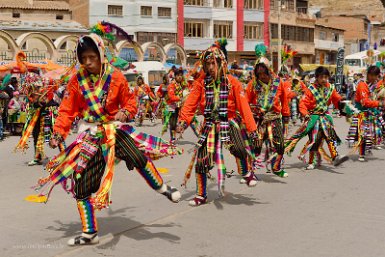
[[[285,152],[292,153],[299,140],[306,135],[309,136],[299,156],[300,160],[306,163],[305,155],[309,152],[307,170],[313,170],[321,165],[321,156],[330,160],[334,166],[339,166],[349,159],[347,156],[340,156],[337,151],[341,140],[334,129],[328,107],[333,103],[341,113],[344,113],[344,104],[334,86],[328,83],[329,77],[330,73],[326,68],[320,66],[315,70],[315,82],[305,89],[299,105],[304,123],[286,142]],[[326,155],[322,148],[324,141],[327,143],[330,156]]]

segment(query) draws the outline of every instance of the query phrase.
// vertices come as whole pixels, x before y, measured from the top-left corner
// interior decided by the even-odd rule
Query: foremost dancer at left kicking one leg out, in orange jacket
[[[150,158],[180,151],[124,124],[137,112],[135,95],[129,90],[124,75],[106,61],[102,39],[95,34],[80,37],[76,56],[81,68],[68,82],[50,146],[55,148],[63,142],[75,117],[81,114],[79,135],[50,161],[46,167],[50,175],[38,184],[40,190],[48,187],[48,192],[40,194],[47,201],[55,185],[65,184],[67,178],[74,183],[83,233],[70,239],[70,246],[99,242],[95,209],[111,203],[115,158],[124,161],[129,170],[136,168],[152,189],[172,202],[178,202],[181,197],[177,189],[163,182]],[[117,125],[117,121],[123,124]],[[64,188],[71,191],[69,187]],[[96,193],[94,197],[93,193]]]

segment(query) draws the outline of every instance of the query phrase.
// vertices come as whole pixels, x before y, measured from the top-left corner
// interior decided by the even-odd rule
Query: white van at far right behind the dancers
[[[373,64],[378,61],[378,55],[380,53],[381,52],[378,50],[373,50],[373,57],[372,57]],[[367,60],[368,60],[367,51],[362,51],[355,54],[347,55],[345,57],[345,65],[348,67],[349,75],[353,75],[355,73],[365,74],[366,68],[368,67]]]

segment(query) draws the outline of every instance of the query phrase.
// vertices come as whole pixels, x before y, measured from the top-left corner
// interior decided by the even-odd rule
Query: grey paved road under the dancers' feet
[[[344,119],[336,124],[346,135]],[[143,130],[156,135],[160,126]],[[23,200],[44,171],[26,166],[32,150],[12,153],[16,141],[0,142],[0,256],[385,256],[385,150],[375,151],[367,163],[354,157],[338,169],[325,165],[310,172],[294,154],[286,159],[288,178],[261,170],[257,187],[247,188],[234,177],[221,199],[212,183],[210,203],[199,208],[187,202],[194,195],[193,180],[182,189],[183,201],[172,204],[119,165],[113,204],[97,213],[101,243],[69,248],[67,240],[81,229],[75,201],[60,187],[46,205]],[[189,149],[194,141],[187,131],[181,143]],[[166,181],[179,185],[189,159],[185,154],[156,164],[168,168]],[[233,159],[226,160],[235,169]]]

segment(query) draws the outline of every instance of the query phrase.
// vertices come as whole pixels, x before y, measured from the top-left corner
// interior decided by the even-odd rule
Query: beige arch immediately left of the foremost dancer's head
[[[71,66],[76,62],[75,48],[78,41],[77,36],[61,36],[55,40],[54,45],[57,52],[56,62],[64,66]]]

